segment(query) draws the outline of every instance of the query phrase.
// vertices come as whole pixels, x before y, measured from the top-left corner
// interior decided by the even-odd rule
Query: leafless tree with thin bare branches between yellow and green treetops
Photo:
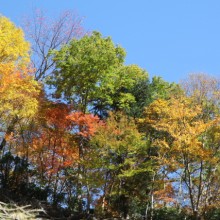
[[[31,57],[35,79],[45,79],[54,69],[50,51],[59,49],[72,38],[85,34],[83,18],[72,11],[65,11],[57,18],[50,18],[42,10],[34,10],[31,16],[23,20],[23,29],[31,43]]]

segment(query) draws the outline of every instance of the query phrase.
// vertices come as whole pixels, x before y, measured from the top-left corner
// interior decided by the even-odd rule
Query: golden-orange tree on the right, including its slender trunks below
[[[216,181],[209,180],[217,176],[214,171],[219,157],[217,149],[207,144],[207,132],[215,121],[204,120],[202,106],[181,96],[154,101],[141,124],[154,132],[159,172],[167,173],[167,179],[173,181],[179,204],[191,204],[199,219],[207,206],[216,203],[210,197],[211,184]]]

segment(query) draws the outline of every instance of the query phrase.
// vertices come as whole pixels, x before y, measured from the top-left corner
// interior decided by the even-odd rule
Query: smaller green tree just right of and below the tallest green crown
[[[112,90],[109,91],[109,85],[106,84],[103,92],[109,94],[111,99],[107,101],[105,97],[100,96],[93,103],[95,112],[107,115],[107,111],[124,111],[128,115],[137,117],[137,112],[142,110],[141,107],[148,93],[148,73],[137,65],[122,66],[116,70],[114,78],[110,80],[112,80]]]

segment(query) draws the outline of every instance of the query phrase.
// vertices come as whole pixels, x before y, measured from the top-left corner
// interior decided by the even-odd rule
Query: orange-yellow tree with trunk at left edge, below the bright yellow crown
[[[17,159],[27,164],[29,148],[22,130],[38,112],[40,86],[29,71],[24,66],[16,68],[12,63],[0,64],[0,174],[3,188],[17,187],[18,179],[28,180],[27,172],[18,174],[13,161],[19,144],[25,156]]]

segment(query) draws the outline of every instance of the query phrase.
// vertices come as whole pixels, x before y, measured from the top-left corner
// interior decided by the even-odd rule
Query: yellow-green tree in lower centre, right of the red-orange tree
[[[142,206],[147,203],[147,184],[152,172],[148,143],[133,119],[112,112],[97,129],[92,146],[95,160],[99,161],[98,172],[103,173],[100,206],[103,211],[117,212],[126,218],[131,211],[137,211],[132,209],[132,202]]]

